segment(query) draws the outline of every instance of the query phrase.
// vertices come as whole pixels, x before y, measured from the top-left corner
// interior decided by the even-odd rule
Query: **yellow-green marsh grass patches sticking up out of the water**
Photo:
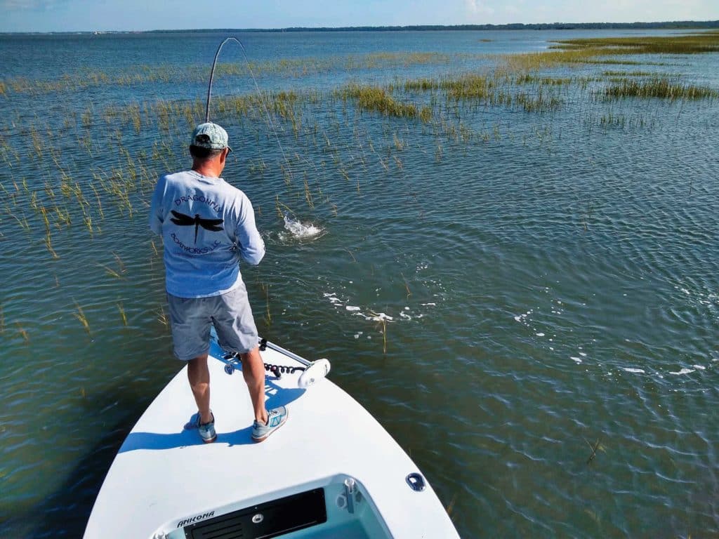
[[[643,38],[632,39],[640,42],[643,40]],[[711,40],[719,41],[719,34],[711,38],[702,37],[695,42],[695,45],[687,41],[681,48],[687,53],[709,52],[713,50],[711,47],[714,45],[708,49],[704,45]],[[404,174],[404,170],[407,170],[406,175],[410,176],[409,172],[413,170],[414,164],[413,149],[417,140],[413,137],[420,131],[429,139],[426,150],[422,151],[429,153],[431,158],[434,150],[436,165],[441,165],[445,153],[447,156],[454,155],[453,151],[457,147],[466,148],[470,144],[490,141],[500,144],[507,134],[500,130],[499,124],[492,124],[491,120],[477,121],[485,112],[491,113],[491,107],[541,114],[560,109],[567,96],[569,100],[576,96],[577,99],[586,98],[587,101],[592,98],[598,101],[597,96],[600,100],[629,97],[656,97],[669,100],[718,97],[717,91],[713,88],[682,84],[676,75],[663,78],[659,73],[639,69],[605,70],[602,77],[597,74],[597,76],[582,78],[540,73],[544,68],[562,66],[561,73],[565,75],[566,70],[563,67],[565,64],[632,65],[639,62],[634,56],[626,55],[657,53],[661,47],[665,47],[664,52],[671,49],[671,47],[667,48],[666,43],[660,44],[660,47],[656,43],[637,45],[626,40],[600,40],[601,42],[594,40],[582,44],[574,41],[568,40],[558,45],[561,48],[546,52],[505,58],[505,62],[490,73],[457,73],[395,80],[394,83],[385,86],[350,83],[334,91],[298,91],[293,88],[287,91],[262,93],[262,95],[218,96],[213,101],[213,114],[235,124],[239,123],[243,129],[247,128],[249,136],[257,137],[258,141],[260,137],[265,137],[269,133],[270,121],[273,124],[276,122],[279,137],[283,142],[288,139],[289,144],[301,147],[295,154],[296,158],[279,162],[278,159],[263,155],[255,160],[249,160],[247,169],[252,174],[261,175],[262,180],[267,183],[273,182],[273,185],[277,183],[283,200],[288,201],[290,206],[306,203],[313,212],[325,211],[336,216],[338,212],[336,204],[330,201],[329,195],[323,193],[323,186],[316,178],[329,178],[330,181],[337,179],[343,184],[347,181],[347,185],[344,186],[346,192],[355,187],[354,180],[356,180],[357,193],[360,191],[360,180],[362,180],[363,192],[372,193],[376,185],[369,178],[373,174],[398,175],[398,172]],[[679,51],[675,47],[671,52]],[[383,65],[417,65],[449,60],[449,57],[433,53],[426,55],[377,53],[354,60],[343,59],[339,65],[337,59],[334,59],[328,63],[310,61],[307,65],[301,65],[305,61],[302,60],[302,62],[268,63],[255,67],[273,74],[311,73],[312,70],[342,69],[342,65],[346,67],[349,65],[348,70],[366,70],[375,66],[381,68]],[[335,64],[332,65],[332,62]],[[219,73],[225,76],[244,76],[242,73],[245,73],[245,70],[244,66],[229,65],[223,66]],[[119,82],[132,85],[163,78],[167,81],[175,81],[177,73],[177,70],[174,72],[166,70],[165,73],[160,70],[158,73],[152,68],[147,70],[143,68],[137,73],[125,75]],[[202,75],[199,73],[199,70],[194,73],[191,69],[181,77],[185,80],[195,77],[196,80],[204,80],[206,69],[203,68]],[[618,79],[611,81],[607,80],[607,77]],[[649,78],[649,80],[630,81],[626,80],[628,77]],[[109,85],[116,83],[117,80],[119,79],[113,76],[98,74],[86,84]],[[28,84],[30,83],[28,81]],[[44,89],[42,85],[40,88],[30,89],[22,88],[22,84],[16,88],[11,88],[10,83],[1,84],[1,93],[6,93],[7,98],[12,98],[11,94],[16,91],[17,93],[54,91],[59,95],[73,88],[75,82],[63,78],[56,81],[54,88],[50,88],[52,86],[50,85]],[[572,96],[569,88],[576,89],[575,96]],[[267,119],[265,108],[272,117],[271,120]],[[372,121],[377,121],[378,116],[381,116],[378,121],[382,124],[381,129],[385,137],[383,143],[377,140],[373,142],[372,137],[367,134],[353,133],[352,136],[339,136],[341,132],[347,134],[349,128],[362,131],[363,128],[358,129],[358,126],[362,126],[362,115],[365,113],[372,114]],[[27,148],[16,147],[17,144],[9,137],[0,135],[0,160],[4,161],[9,169],[19,169],[31,178],[28,182],[22,178],[22,174],[17,173],[13,175],[17,180],[14,180],[12,185],[10,180],[6,181],[6,185],[0,184],[7,217],[4,219],[4,226],[9,224],[28,233],[44,230],[47,252],[52,259],[58,259],[52,241],[58,241],[59,238],[58,245],[62,245],[65,229],[75,225],[76,229],[84,230],[86,234],[92,236],[101,232],[99,225],[106,229],[108,226],[115,226],[120,219],[128,221],[134,218],[136,213],[142,213],[143,205],[147,207],[147,195],[155,185],[158,171],[175,170],[183,165],[186,156],[181,152],[183,144],[178,144],[177,141],[184,140],[188,127],[196,124],[202,116],[201,99],[178,101],[159,99],[144,103],[115,104],[106,106],[105,109],[92,103],[82,105],[76,111],[68,111],[63,120],[64,129],[70,133],[70,137],[77,139],[75,148],[81,154],[78,158],[67,156],[63,151],[60,137],[53,138],[55,130],[42,124],[37,116],[35,124],[28,122],[22,126],[26,135],[24,140],[30,141]],[[644,119],[638,119],[632,124],[634,120],[630,116],[617,114],[614,111],[609,111],[601,117],[595,116],[591,123],[596,125],[597,119],[600,125],[605,127],[644,126]],[[403,125],[407,135],[398,134],[398,125]],[[411,129],[416,129],[416,132],[410,134]],[[123,137],[135,138],[135,135],[145,131],[158,134],[154,145],[147,150],[125,146]],[[532,138],[539,142],[539,146],[551,146],[551,134],[548,134],[546,129],[542,131],[538,127],[533,134],[524,134],[523,143],[526,144],[526,140]],[[300,157],[306,155],[304,152],[307,149],[314,149],[316,155],[321,156],[319,164],[316,164],[316,160]],[[406,153],[400,157],[398,154],[401,152]],[[93,170],[92,180],[88,180],[78,172],[76,163],[98,155],[103,159]],[[25,172],[27,167],[29,172]],[[44,180],[44,185],[40,185],[43,180],[35,185],[32,178],[47,178],[47,180]],[[331,192],[332,188],[334,185],[326,189],[325,193]],[[276,195],[275,208],[280,219],[285,213],[295,215],[295,211],[290,206],[281,203],[280,195]],[[104,221],[107,221],[106,224]],[[586,231],[588,225],[584,217],[582,217],[582,226]],[[33,241],[40,237],[42,236],[38,234]],[[150,240],[150,246],[155,257],[162,256],[154,241]],[[116,264],[99,264],[99,267],[114,279],[124,280],[127,268],[116,253],[113,255]],[[349,256],[356,262],[352,252],[349,252]],[[152,260],[150,257],[150,264]],[[95,271],[103,275],[99,269]],[[408,283],[404,276],[402,277],[406,295],[409,297],[411,292]],[[118,286],[120,285],[122,283],[118,283]],[[266,303],[265,318],[267,323],[271,323],[268,286],[263,290],[265,290]],[[73,314],[81,322],[84,319],[83,326],[85,326],[87,320],[84,313],[79,305],[75,305],[78,311]],[[118,303],[117,308],[123,323],[127,325],[122,303]],[[167,325],[167,318],[162,308],[157,321]],[[12,321],[10,323],[12,324]],[[386,321],[380,323],[383,332],[383,350],[386,353]],[[89,333],[89,324],[85,327]],[[1,321],[0,330],[4,330],[4,320]]]

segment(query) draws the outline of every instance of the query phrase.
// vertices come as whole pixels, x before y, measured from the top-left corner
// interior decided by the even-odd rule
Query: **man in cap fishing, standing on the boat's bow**
[[[205,443],[217,438],[207,368],[210,324],[220,345],[242,359],[242,374],[255,410],[252,440],[264,441],[288,417],[284,406],[265,409],[265,366],[239,273],[240,259],[260,263],[265,242],[247,195],[220,178],[230,151],[221,126],[198,125],[190,142],[192,170],[162,176],[150,208],[150,228],[165,244],[175,356],[188,361],[188,379],[198,408],[186,428],[196,428]]]

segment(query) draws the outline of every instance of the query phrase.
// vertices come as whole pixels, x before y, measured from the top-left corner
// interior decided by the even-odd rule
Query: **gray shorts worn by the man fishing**
[[[183,361],[207,354],[210,324],[219,344],[227,351],[244,354],[257,346],[257,327],[244,282],[226,294],[209,298],[178,298],[168,294],[175,356]]]

